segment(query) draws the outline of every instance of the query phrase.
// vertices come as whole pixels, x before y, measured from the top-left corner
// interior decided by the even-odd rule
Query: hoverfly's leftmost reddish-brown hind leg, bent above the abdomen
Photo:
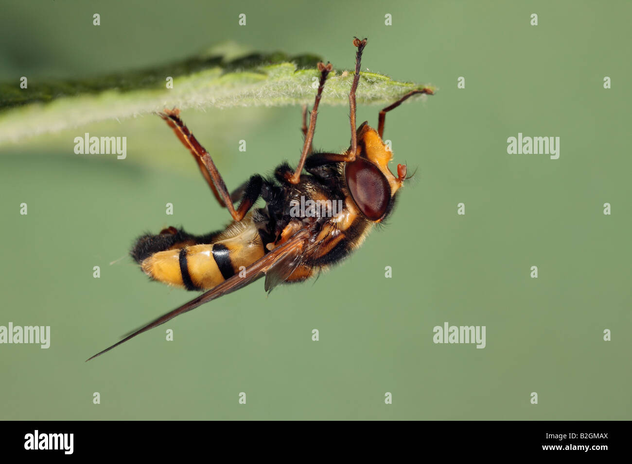
[[[257,198],[252,199],[253,193],[251,191],[250,199],[244,198],[241,201],[239,208],[235,210],[233,202],[231,201],[231,195],[229,195],[226,184],[224,183],[224,179],[222,179],[222,176],[219,174],[219,171],[217,170],[215,163],[210,157],[209,152],[205,150],[204,146],[200,145],[195,136],[193,136],[191,131],[185,126],[185,123],[182,122],[179,114],[179,109],[165,109],[164,112],[159,112],[158,116],[162,117],[162,119],[164,119],[167,124],[169,124],[169,127],[173,129],[179,140],[183,143],[184,146],[186,146],[186,148],[189,149],[191,155],[193,155],[193,158],[195,158],[195,160],[197,161],[200,172],[202,172],[202,175],[204,175],[204,179],[206,179],[219,204],[228,208],[228,211],[229,213],[231,213],[231,216],[234,220],[241,221],[250,209],[250,207],[253,205],[253,203],[257,201],[258,193],[260,193],[260,185],[259,192],[257,193]],[[249,182],[251,182],[254,177],[256,176],[251,177]],[[259,177],[259,179],[261,178]],[[236,193],[233,192],[233,194]]]

